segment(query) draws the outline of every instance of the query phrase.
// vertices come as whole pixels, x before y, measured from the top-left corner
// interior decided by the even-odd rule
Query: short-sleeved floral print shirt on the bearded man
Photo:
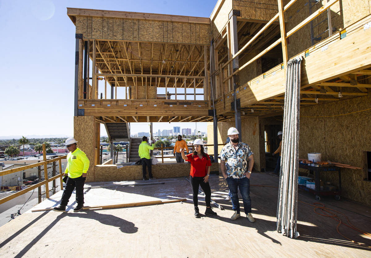
[[[253,155],[249,145],[239,142],[237,150],[233,147],[232,142],[227,143],[221,149],[220,158],[226,161],[226,172],[228,177],[244,178],[247,171],[248,157]]]

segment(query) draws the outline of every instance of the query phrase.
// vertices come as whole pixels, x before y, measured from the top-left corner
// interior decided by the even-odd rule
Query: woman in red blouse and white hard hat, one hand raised
[[[198,187],[205,192],[206,211],[205,215],[217,215],[210,207],[211,190],[209,185],[209,175],[211,161],[209,155],[204,153],[204,142],[201,139],[196,139],[193,142],[194,152],[184,155],[184,151],[180,149],[183,160],[191,163],[190,182],[193,190],[193,205],[194,217],[200,218],[200,211],[198,210]]]

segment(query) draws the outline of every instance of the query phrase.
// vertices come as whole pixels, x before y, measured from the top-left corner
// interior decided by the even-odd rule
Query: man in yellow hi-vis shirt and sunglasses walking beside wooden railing
[[[63,176],[68,175],[68,178],[60,205],[53,210],[66,211],[69,198],[76,188],[77,206],[73,209],[73,212],[78,212],[84,207],[84,183],[90,162],[86,154],[77,147],[75,138],[68,138],[66,140],[66,147],[69,153],[67,154],[67,166]]]

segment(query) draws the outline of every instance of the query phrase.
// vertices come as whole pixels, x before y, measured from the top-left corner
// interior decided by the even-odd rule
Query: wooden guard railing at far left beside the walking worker
[[[19,172],[19,171],[22,171],[22,170],[26,170],[26,169],[29,169],[29,168],[35,168],[35,167],[39,167],[39,166],[43,165],[44,166],[45,180],[43,180],[43,181],[41,181],[37,184],[30,185],[26,189],[20,190],[20,191],[14,193],[14,194],[11,194],[7,197],[1,198],[0,199],[0,204],[3,204],[4,202],[10,201],[10,200],[22,195],[22,194],[25,194],[26,192],[32,191],[33,189],[35,189],[37,187],[41,187],[42,185],[45,185],[45,193],[44,194],[46,194],[46,198],[49,198],[49,182],[55,181],[58,178],[60,178],[60,190],[63,190],[62,160],[65,159],[65,158],[67,158],[67,155],[64,155],[64,156],[61,156],[61,157],[58,157],[58,158],[52,158],[50,160],[46,160],[46,148],[45,148],[45,144],[43,144],[43,161],[42,162],[38,162],[38,163],[35,163],[35,164],[25,165],[25,166],[22,166],[22,167],[12,168],[12,169],[7,169],[7,170],[4,170],[4,171],[1,171],[0,176],[3,176],[3,175],[9,175],[9,174],[12,174],[14,172]],[[58,161],[58,165],[59,165],[59,175],[55,175],[54,177],[48,178],[47,164],[53,163],[53,162],[56,162],[56,161]]]

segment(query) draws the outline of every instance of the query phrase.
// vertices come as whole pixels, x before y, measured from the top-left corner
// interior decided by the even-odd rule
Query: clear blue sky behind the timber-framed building
[[[0,0],[0,136],[73,135],[75,26],[66,7],[210,17],[216,3]],[[154,130],[173,126],[155,123]],[[194,123],[180,127],[194,130]],[[206,123],[197,127],[206,131]],[[134,132],[147,127],[132,123],[131,128]]]

